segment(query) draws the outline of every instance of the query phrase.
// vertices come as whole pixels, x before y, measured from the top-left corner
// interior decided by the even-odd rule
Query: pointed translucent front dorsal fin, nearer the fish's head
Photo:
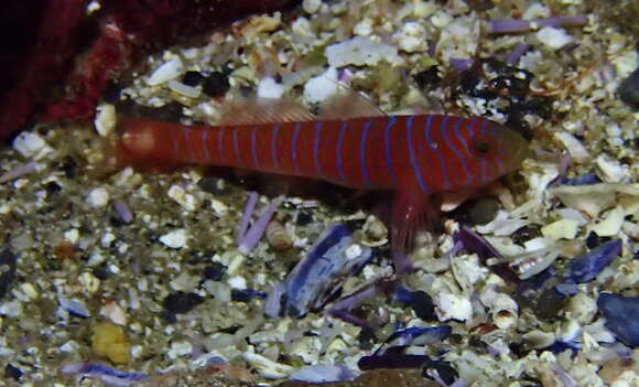
[[[348,119],[360,117],[386,116],[386,112],[366,96],[338,84],[343,92],[335,95],[320,109],[320,119]]]

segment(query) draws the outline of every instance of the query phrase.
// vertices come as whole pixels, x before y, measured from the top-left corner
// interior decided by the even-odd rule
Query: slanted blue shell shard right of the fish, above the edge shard
[[[574,259],[566,280],[576,283],[589,282],[621,252],[621,239],[610,240],[596,249]]]

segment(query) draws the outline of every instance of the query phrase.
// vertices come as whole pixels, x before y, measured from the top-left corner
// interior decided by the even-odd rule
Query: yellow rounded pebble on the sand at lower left
[[[124,330],[111,322],[104,321],[94,326],[91,350],[96,356],[106,357],[113,364],[129,362],[131,344]]]

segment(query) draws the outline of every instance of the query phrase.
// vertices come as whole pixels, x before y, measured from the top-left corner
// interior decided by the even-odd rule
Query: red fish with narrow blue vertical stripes
[[[118,158],[133,165],[226,165],[390,190],[393,248],[407,251],[413,233],[438,213],[432,194],[481,187],[517,169],[528,150],[519,133],[480,117],[317,119],[293,110],[284,122],[264,123],[275,120],[264,111],[261,123],[250,108],[236,108],[245,118],[220,126],[128,119],[120,125]]]

